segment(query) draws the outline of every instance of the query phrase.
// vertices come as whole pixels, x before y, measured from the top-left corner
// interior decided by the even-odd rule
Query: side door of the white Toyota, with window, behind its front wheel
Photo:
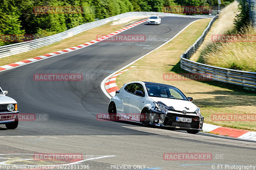
[[[145,96],[145,90],[143,86],[140,83],[134,83],[133,84],[133,93],[130,97],[130,103],[129,103],[129,113],[132,115],[133,118],[137,119],[137,121],[140,120],[140,112],[142,109],[142,106],[144,104],[145,97],[136,95],[135,91],[142,91]]]

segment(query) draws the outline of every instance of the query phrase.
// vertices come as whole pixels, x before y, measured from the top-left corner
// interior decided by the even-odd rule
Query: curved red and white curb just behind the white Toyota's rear
[[[119,87],[116,85],[117,76],[119,76],[120,74],[123,74],[125,71],[128,71],[129,69],[131,69],[133,67],[136,67],[136,66],[132,66],[128,69],[122,70],[107,79],[107,81],[105,82],[105,89],[111,97],[115,96],[116,90],[120,90]]]

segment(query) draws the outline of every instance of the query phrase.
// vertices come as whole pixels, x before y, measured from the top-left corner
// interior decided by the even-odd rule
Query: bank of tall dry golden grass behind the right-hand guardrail
[[[256,71],[256,43],[255,42],[218,42],[211,41],[215,34],[256,34],[251,26],[238,33],[234,27],[234,18],[238,2],[234,1],[224,8],[220,17],[212,26],[203,44],[192,56],[191,60],[229,69]]]

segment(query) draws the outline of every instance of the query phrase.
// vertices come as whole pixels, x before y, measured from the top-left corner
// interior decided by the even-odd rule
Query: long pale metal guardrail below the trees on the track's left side
[[[47,46],[50,45],[54,42],[58,42],[61,41],[63,39],[69,38],[71,36],[74,36],[78,33],[82,33],[86,30],[98,27],[98,26],[102,26],[108,22],[112,22],[118,19],[122,19],[125,17],[130,17],[130,16],[144,16],[144,15],[151,15],[151,14],[158,14],[161,16],[176,16],[176,17],[180,17],[180,16],[185,16],[185,15],[179,15],[179,14],[171,14],[171,13],[163,13],[163,12],[126,12],[123,14],[119,14],[113,17],[109,17],[109,18],[105,18],[105,19],[101,19],[98,21],[93,21],[90,23],[85,23],[83,25],[80,26],[76,26],[74,28],[71,28],[67,31],[52,35],[52,36],[48,36],[48,37],[44,37],[44,38],[40,38],[40,39],[36,39],[36,40],[32,40],[32,41],[26,41],[26,42],[20,42],[20,43],[16,43],[16,44],[11,44],[11,45],[6,45],[6,46],[1,46],[0,47],[0,58],[2,57],[6,57],[6,56],[10,56],[10,55],[15,55],[15,54],[19,54],[19,53],[23,53],[23,52],[27,52],[30,51],[32,49],[36,49],[36,48],[40,48],[43,46]],[[187,17],[193,17],[193,18],[212,18],[213,16],[210,15],[194,15],[194,16],[187,16]],[[96,37],[95,37],[96,38]]]

